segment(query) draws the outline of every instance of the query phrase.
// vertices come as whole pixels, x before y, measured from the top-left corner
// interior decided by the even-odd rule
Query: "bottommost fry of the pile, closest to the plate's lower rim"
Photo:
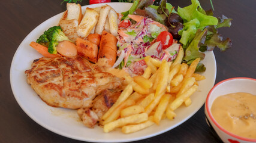
[[[127,126],[123,126],[122,127],[122,132],[123,133],[132,133],[132,132],[137,132],[138,130],[142,130],[145,129],[149,126],[154,125],[153,122],[153,116],[149,117],[149,120],[147,120],[146,122],[143,123],[139,123],[137,125],[127,125]]]

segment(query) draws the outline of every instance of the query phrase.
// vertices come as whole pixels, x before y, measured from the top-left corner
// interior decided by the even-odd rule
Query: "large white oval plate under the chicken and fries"
[[[95,4],[84,6],[86,7],[100,7],[103,4]],[[129,3],[109,3],[118,13],[127,11],[131,7]],[[189,107],[182,105],[176,110],[177,117],[173,121],[162,120],[160,125],[153,125],[150,128],[141,130],[139,132],[124,134],[120,129],[110,133],[104,133],[103,129],[96,126],[94,129],[86,128],[76,114],[76,110],[69,110],[64,108],[54,108],[43,102],[38,95],[34,92],[31,86],[26,83],[25,70],[31,69],[32,61],[42,57],[29,46],[31,41],[36,41],[37,38],[49,29],[49,27],[58,24],[62,13],[55,15],[52,18],[44,21],[36,27],[28,36],[20,43],[13,61],[11,63],[10,80],[11,88],[13,89],[14,97],[19,103],[20,107],[28,114],[31,119],[39,125],[52,132],[58,133],[68,138],[78,139],[81,141],[89,142],[128,142],[137,141],[140,139],[150,138],[159,135],[160,133],[167,132],[179,126],[192,115],[194,115],[206,101],[206,96],[215,83],[216,77],[216,62],[213,52],[206,52],[206,58],[202,63],[206,66],[206,80],[200,81],[198,91],[192,95],[192,104]]]

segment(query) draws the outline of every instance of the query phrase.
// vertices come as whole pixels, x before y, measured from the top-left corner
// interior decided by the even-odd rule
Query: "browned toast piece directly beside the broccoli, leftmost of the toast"
[[[61,29],[63,30],[65,35],[72,42],[76,42],[76,39],[79,38],[79,36],[77,35],[77,32],[76,32],[78,25],[79,25],[79,21],[76,19],[62,20],[59,23],[59,26],[61,26]]]

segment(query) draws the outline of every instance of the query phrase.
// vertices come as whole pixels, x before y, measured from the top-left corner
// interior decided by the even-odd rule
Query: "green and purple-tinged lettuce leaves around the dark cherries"
[[[210,2],[212,5],[212,1]],[[152,4],[152,0],[135,0],[130,10],[122,13],[124,15],[122,20],[129,19],[128,14],[136,14],[136,11],[139,10],[139,15],[150,17],[154,21],[165,24],[165,20],[167,20],[170,13],[179,14],[183,19],[183,29],[179,30],[178,33],[181,36],[179,42],[182,43],[185,51],[184,63],[191,64],[198,57],[203,60],[205,56],[203,52],[205,51],[212,51],[214,48],[225,51],[231,47],[231,39],[223,40],[217,29],[230,27],[232,19],[224,15],[222,15],[222,18],[214,17],[212,10],[204,11],[198,0],[191,0],[191,5],[187,7],[178,7],[177,12],[171,11],[173,6],[168,4],[166,0],[161,0],[159,6]],[[153,41],[153,38],[156,38],[159,33],[154,35],[152,32],[151,35],[152,38],[144,36],[143,42]],[[196,71],[205,70],[206,67],[203,64],[198,64]]]

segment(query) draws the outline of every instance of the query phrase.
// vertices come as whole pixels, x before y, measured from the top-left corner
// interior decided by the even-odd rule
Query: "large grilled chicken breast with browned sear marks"
[[[90,108],[105,89],[121,89],[124,79],[81,57],[39,58],[25,71],[28,83],[48,105]]]

